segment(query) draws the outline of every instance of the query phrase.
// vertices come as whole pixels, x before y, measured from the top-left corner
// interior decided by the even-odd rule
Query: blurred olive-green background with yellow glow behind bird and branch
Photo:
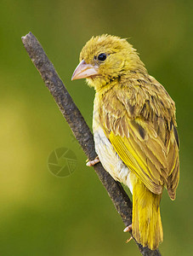
[[[92,125],[94,90],[71,82],[93,35],[129,38],[177,107],[180,183],[162,198],[162,255],[192,252],[191,1],[11,1],[0,3],[0,255],[140,255],[21,43],[31,31]],[[190,56],[191,55],[191,56]],[[48,170],[60,147],[77,155],[69,177]]]

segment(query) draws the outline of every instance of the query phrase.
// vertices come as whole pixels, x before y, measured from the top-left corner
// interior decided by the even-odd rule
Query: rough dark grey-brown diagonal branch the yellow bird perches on
[[[45,54],[41,44],[39,44],[37,38],[31,32],[21,39],[31,61],[37,67],[44,83],[59,106],[61,113],[70,125],[71,131],[77,138],[78,143],[80,143],[82,150],[89,160],[94,160],[97,154],[94,149],[93,134],[89,130],[76,104],[72,101],[65,85],[56,73],[52,62],[48,60],[48,56]],[[94,166],[94,170],[108,192],[108,195],[111,197],[111,201],[116,207],[116,211],[120,214],[123,223],[128,226],[132,220],[132,202],[122,188],[121,183],[116,182],[108,172],[105,172],[105,169],[100,163]],[[137,241],[135,242],[142,255],[161,255],[158,250],[151,251],[148,247],[142,247]]]

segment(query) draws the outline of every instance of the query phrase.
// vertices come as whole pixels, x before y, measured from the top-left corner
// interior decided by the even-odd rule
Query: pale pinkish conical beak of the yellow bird
[[[95,76],[98,74],[98,67],[94,67],[93,65],[87,64],[84,60],[82,60],[75,69],[71,80],[76,79],[86,79],[91,76]]]

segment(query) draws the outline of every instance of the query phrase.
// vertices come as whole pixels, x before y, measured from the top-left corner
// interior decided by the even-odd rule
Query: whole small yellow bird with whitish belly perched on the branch
[[[163,240],[163,187],[174,200],[179,183],[175,103],[151,77],[126,39],[91,38],[82,48],[72,80],[94,87],[94,143],[111,176],[133,194],[133,237],[154,250]],[[131,226],[126,230],[130,230]]]

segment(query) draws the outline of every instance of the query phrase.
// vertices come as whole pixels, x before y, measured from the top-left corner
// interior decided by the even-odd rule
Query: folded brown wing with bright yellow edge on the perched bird
[[[136,102],[132,105],[132,101],[127,103],[125,100],[131,98],[127,91],[112,90],[110,101],[105,96],[101,98],[100,123],[116,153],[145,186],[152,193],[161,194],[166,185],[169,196],[174,199],[179,183],[179,141],[173,124],[174,113],[168,124],[164,113],[157,116],[153,102],[140,99],[140,96],[141,106],[136,110]],[[145,118],[144,108],[149,108],[152,117]],[[132,115],[134,112],[135,116]]]

